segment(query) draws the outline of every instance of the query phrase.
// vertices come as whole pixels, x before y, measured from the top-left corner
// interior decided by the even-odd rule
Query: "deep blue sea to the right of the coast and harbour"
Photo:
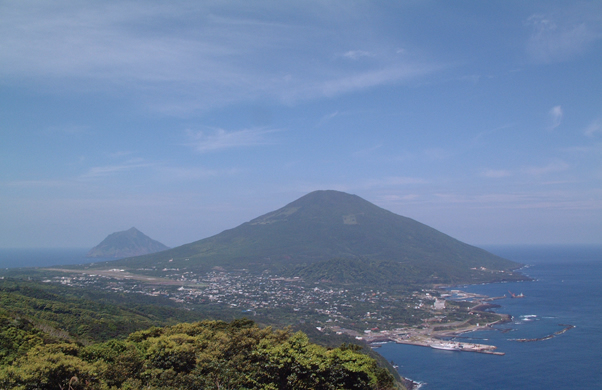
[[[492,344],[505,356],[385,344],[377,351],[422,389],[602,389],[602,247],[489,247],[529,266],[532,282],[461,287],[501,299],[495,311],[513,316],[494,330],[460,340]],[[561,325],[562,324],[562,325]],[[554,338],[521,343],[575,328]]]

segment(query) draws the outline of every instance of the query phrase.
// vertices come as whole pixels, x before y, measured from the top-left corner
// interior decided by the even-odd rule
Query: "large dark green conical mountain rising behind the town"
[[[468,282],[474,268],[499,273],[518,266],[339,191],[315,191],[213,237],[119,263],[131,267],[169,263],[170,267],[290,272],[333,259],[355,259],[366,264],[378,261],[381,267],[383,261],[392,262],[397,268],[403,265],[404,272],[419,279],[442,282]]]

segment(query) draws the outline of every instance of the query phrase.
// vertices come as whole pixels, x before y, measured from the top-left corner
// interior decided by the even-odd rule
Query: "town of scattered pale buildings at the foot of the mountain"
[[[44,282],[164,297],[190,310],[223,308],[273,323],[307,323],[326,334],[345,333],[369,342],[403,341],[404,338],[393,337],[400,334],[400,329],[406,330],[401,332],[407,336],[405,339],[410,339],[409,335],[428,338],[506,319],[504,315],[484,311],[491,306],[490,298],[459,290],[337,286],[325,281],[307,283],[298,277],[219,267],[209,272],[177,268],[52,271],[53,276]],[[142,272],[152,272],[153,276]],[[157,274],[161,276],[154,276]]]

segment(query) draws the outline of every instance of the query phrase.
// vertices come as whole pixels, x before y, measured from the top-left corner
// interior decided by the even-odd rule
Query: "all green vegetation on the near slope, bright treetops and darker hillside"
[[[202,314],[148,299],[0,280],[0,388],[402,387],[358,345],[327,348],[246,319],[177,323]]]

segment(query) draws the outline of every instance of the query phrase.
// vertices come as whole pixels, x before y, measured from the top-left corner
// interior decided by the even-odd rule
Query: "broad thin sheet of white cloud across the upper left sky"
[[[342,25],[352,27],[364,19],[356,16],[369,9],[344,1],[316,2],[307,9],[272,2],[58,0],[35,7],[3,2],[0,77],[38,90],[132,96],[163,112],[186,113],[257,98],[315,99],[439,69],[401,58],[396,42],[366,37],[366,46],[384,47],[385,54],[351,50],[343,57],[371,61],[332,61],[333,53],[353,47],[358,31],[370,29],[371,22]],[[288,14],[294,23],[281,22]],[[308,57],[312,66],[307,66]]]

